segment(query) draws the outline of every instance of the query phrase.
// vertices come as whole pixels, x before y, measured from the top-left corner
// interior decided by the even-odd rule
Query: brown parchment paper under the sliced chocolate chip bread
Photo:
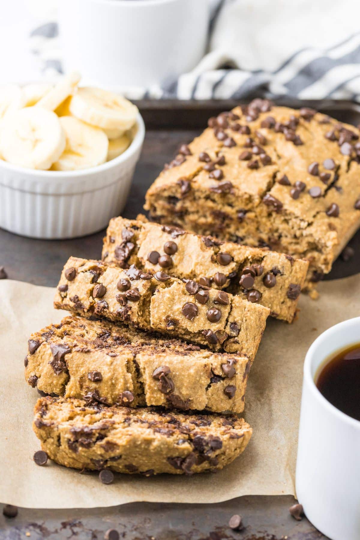
[[[54,289],[0,281],[0,502],[28,508],[107,507],[133,501],[214,503],[241,495],[295,494],[294,474],[302,366],[311,342],[360,312],[360,275],[320,285],[320,299],[301,296],[293,325],[268,320],[250,372],[244,417],[253,437],[244,453],[218,474],[117,475],[111,485],[96,473],[49,463],[36,465],[40,443],[31,429],[38,394],[25,383],[30,334],[67,313],[52,307]]]

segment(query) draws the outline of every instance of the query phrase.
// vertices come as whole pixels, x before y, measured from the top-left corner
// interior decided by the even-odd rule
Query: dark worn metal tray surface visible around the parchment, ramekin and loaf
[[[173,157],[181,143],[192,140],[200,133],[199,125],[203,125],[204,119],[209,116],[209,109],[206,109],[205,105],[199,105],[198,120],[201,120],[201,124],[193,122],[192,130],[184,130],[181,126],[190,122],[193,117],[188,110],[171,104],[163,104],[160,111],[155,110],[152,104],[144,104],[143,107],[147,125],[154,127],[160,122],[166,129],[147,130],[144,151],[123,212],[128,218],[133,218],[142,211],[145,192],[164,163]],[[224,104],[217,104],[216,107],[211,113],[226,108]],[[333,114],[348,122],[359,122],[358,115],[349,113],[348,110],[337,110]],[[176,126],[176,129],[169,129],[170,125]],[[0,266],[5,266],[11,279],[55,286],[70,255],[94,259],[100,257],[103,235],[104,231],[101,231],[81,239],[47,241],[22,238],[0,230]],[[337,279],[358,272],[360,233],[351,240],[350,245],[355,249],[354,257],[348,262],[339,258],[327,279]],[[294,498],[290,496],[252,496],[212,505],[132,503],[107,509],[19,509],[16,518],[0,515],[0,538],[101,539],[107,529],[115,528],[119,531],[120,538],[130,540],[324,539],[307,519],[296,522],[289,515],[288,508],[293,503]],[[233,514],[243,516],[246,525],[243,532],[229,529],[227,523]]]

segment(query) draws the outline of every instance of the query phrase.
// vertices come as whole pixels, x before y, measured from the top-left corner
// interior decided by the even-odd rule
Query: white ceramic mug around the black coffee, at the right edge
[[[360,538],[360,422],[329,403],[314,378],[324,360],[358,342],[360,317],[321,334],[304,363],[296,494],[311,523],[332,540]]]

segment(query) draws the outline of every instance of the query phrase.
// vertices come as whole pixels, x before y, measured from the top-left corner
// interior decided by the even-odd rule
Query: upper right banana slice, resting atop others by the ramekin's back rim
[[[126,131],[135,123],[138,107],[113,92],[86,86],[72,98],[70,112],[88,124]]]

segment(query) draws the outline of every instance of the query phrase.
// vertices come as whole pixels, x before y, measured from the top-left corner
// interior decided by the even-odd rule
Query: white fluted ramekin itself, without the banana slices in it
[[[0,227],[46,239],[100,231],[125,206],[144,137],[144,120],[139,113],[128,149],[96,167],[34,171],[0,159]]]

